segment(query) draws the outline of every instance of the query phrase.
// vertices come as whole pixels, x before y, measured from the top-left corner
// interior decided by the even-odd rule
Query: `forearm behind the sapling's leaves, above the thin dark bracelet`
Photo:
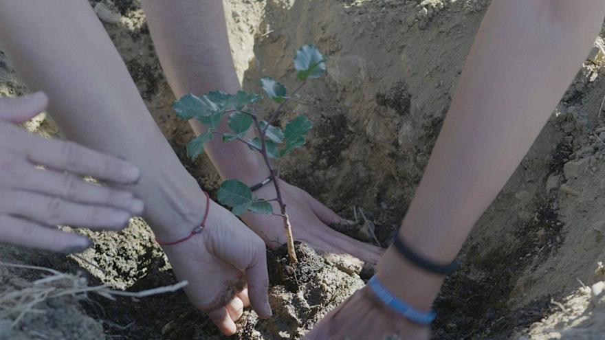
[[[229,47],[222,1],[142,1],[155,51],[175,96],[203,95],[240,89]],[[196,120],[198,135],[206,131]],[[220,131],[230,132],[223,120]],[[257,152],[239,141],[223,143],[220,136],[206,143],[206,153],[221,177],[253,184],[267,177]],[[264,170],[264,171],[263,171]]]

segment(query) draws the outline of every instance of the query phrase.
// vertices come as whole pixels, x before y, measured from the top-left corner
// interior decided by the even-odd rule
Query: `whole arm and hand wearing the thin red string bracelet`
[[[87,1],[0,2],[0,41],[32,89],[45,89],[65,135],[141,169],[133,192],[159,239],[183,238],[201,223],[206,196],[149,115],[120,55]],[[248,293],[259,315],[267,302],[265,247],[216,203],[201,234],[164,247],[186,293],[226,334]]]

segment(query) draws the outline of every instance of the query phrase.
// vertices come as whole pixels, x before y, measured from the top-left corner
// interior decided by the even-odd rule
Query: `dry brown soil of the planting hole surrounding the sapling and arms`
[[[151,114],[188,170],[214,193],[219,177],[208,159],[192,162],[185,155],[192,133],[170,108],[175,98],[139,3],[102,3],[117,15],[99,14]],[[419,183],[489,1],[227,0],[225,5],[245,89],[259,92],[261,76],[294,86],[292,56],[305,43],[329,56],[327,76],[305,88],[287,110],[287,117],[305,113],[315,126],[309,145],[283,163],[283,177],[347,218],[361,207],[375,224],[377,241],[388,245]],[[604,76],[603,54],[593,49],[467,240],[463,267],[448,278],[435,304],[434,339],[602,339],[605,298],[590,287],[605,280],[599,265],[605,260]],[[27,92],[0,54],[0,94]],[[60,137],[45,115],[25,127]],[[83,232],[96,246],[82,258],[0,246],[0,260],[82,271],[90,285],[129,291],[175,282],[143,220],[133,220],[118,234]],[[358,229],[348,232],[375,242]],[[274,318],[258,319],[247,311],[230,339],[298,339],[369,277],[345,257],[297,247],[299,267],[287,263],[283,249],[267,253]],[[0,295],[41,277],[38,271],[2,267],[0,275]],[[15,316],[0,309],[0,339],[226,339],[181,292],[115,302],[66,296],[36,310],[40,313],[28,313],[12,326]]]

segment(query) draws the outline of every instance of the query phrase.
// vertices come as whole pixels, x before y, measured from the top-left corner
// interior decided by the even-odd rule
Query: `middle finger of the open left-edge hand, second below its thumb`
[[[38,170],[33,167],[26,172],[24,177],[28,179],[27,185],[34,188],[31,191],[60,196],[76,203],[116,207],[135,216],[143,213],[143,201],[135,199],[131,192],[94,185],[68,172]]]

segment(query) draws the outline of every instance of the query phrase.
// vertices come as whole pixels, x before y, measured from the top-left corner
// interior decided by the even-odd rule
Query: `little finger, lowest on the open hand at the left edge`
[[[80,253],[91,246],[84,236],[12,216],[0,216],[0,241],[20,247]]]

